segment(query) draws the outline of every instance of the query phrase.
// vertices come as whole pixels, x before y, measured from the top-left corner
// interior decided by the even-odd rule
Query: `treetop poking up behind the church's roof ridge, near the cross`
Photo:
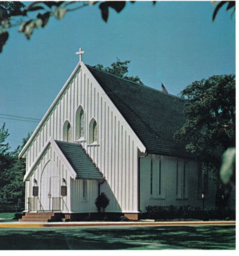
[[[94,66],[94,68],[98,68],[100,70],[106,71],[108,73],[114,74],[115,76],[122,77],[124,79],[136,82],[136,83],[141,83],[143,82],[140,80],[138,76],[125,76],[124,74],[128,73],[128,64],[130,63],[129,60],[126,61],[120,61],[119,58],[117,58],[116,62],[113,62],[111,64],[111,67],[105,67],[102,64],[97,64]]]

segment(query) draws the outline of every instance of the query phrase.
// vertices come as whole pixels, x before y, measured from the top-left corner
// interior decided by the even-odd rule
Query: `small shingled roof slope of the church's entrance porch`
[[[76,143],[55,140],[69,164],[77,173],[77,179],[104,180],[84,149]]]

